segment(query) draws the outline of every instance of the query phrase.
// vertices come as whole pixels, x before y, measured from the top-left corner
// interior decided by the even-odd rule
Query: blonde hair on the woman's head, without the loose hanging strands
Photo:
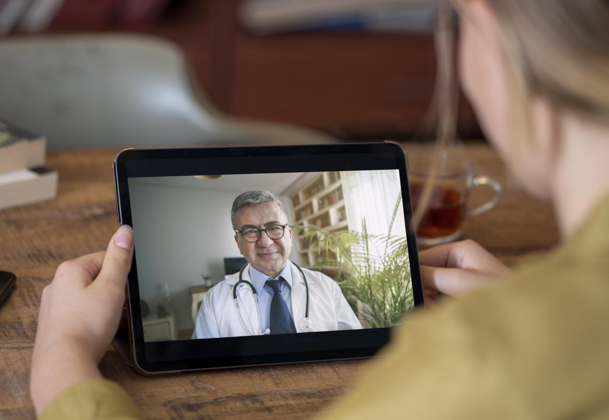
[[[521,89],[558,107],[609,115],[607,0],[486,0]]]

